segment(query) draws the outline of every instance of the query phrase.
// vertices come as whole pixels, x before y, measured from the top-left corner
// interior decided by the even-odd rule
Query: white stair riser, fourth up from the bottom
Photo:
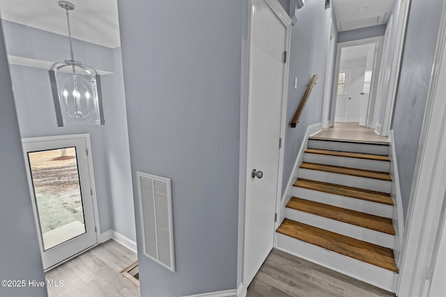
[[[354,186],[355,188],[365,188],[367,190],[384,193],[390,193],[390,190],[392,189],[392,182],[387,182],[380,179],[341,175],[339,173],[311,170],[305,168],[299,168],[299,177],[302,179],[312,179],[318,182],[341,184],[343,186]]]

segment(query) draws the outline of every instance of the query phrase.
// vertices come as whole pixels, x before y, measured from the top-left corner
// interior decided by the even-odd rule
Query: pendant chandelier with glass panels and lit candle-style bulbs
[[[71,59],[54,63],[49,69],[57,125],[104,125],[100,75],[93,67],[75,61],[72,50],[69,11],[75,6],[59,1],[66,10]]]

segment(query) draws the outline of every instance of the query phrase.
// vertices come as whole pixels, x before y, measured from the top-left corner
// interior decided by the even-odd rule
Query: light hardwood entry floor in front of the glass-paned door
[[[63,287],[48,287],[49,297],[139,297],[134,284],[121,271],[137,260],[137,255],[109,240],[45,273],[47,280],[63,281]]]

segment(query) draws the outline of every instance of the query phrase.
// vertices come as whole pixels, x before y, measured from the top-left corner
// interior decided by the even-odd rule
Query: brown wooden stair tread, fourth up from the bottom
[[[379,172],[379,171],[371,171],[371,170],[325,165],[325,164],[318,164],[318,163],[308,163],[308,162],[303,162],[302,164],[300,164],[300,168],[309,169],[309,170],[318,170],[318,171],[323,171],[323,172],[338,173],[341,175],[351,175],[351,176],[355,176],[355,177],[366,177],[366,178],[370,178],[370,179],[380,179],[380,180],[383,180],[386,182],[392,182],[392,178],[390,177],[390,175],[388,173]]]

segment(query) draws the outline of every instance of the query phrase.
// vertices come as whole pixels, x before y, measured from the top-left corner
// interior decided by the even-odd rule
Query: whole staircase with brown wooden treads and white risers
[[[277,248],[393,291],[388,150],[387,143],[309,138]]]

